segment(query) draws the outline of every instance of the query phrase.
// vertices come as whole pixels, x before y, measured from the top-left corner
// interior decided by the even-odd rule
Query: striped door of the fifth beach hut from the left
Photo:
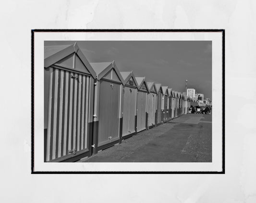
[[[157,94],[150,93],[147,95],[147,112],[148,112],[148,126],[155,125],[155,112],[157,108]]]

